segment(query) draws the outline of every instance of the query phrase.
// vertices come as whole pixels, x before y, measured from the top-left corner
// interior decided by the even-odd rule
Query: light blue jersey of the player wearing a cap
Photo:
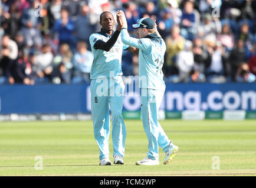
[[[156,33],[146,38],[130,37],[127,29],[121,30],[122,42],[126,45],[139,48],[139,78],[140,88],[149,88],[165,91],[163,80],[163,58],[166,51],[165,41],[157,37]]]

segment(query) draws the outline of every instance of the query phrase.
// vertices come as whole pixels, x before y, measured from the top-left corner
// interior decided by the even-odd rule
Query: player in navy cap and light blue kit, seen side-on
[[[122,25],[121,38],[125,45],[139,49],[139,78],[141,88],[141,112],[143,127],[149,141],[147,157],[137,161],[137,165],[159,164],[159,146],[165,152],[163,164],[170,163],[179,150],[173,145],[157,120],[158,110],[165,93],[163,81],[163,56],[166,45],[156,29],[155,21],[151,18],[142,18],[133,24],[138,28],[139,38],[131,38],[127,32],[127,21],[123,11],[117,11],[117,22]]]

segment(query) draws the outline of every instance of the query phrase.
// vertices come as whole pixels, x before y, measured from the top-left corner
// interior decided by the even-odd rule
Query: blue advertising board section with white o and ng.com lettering
[[[140,110],[138,93],[127,92],[124,110]],[[166,84],[160,109],[167,112],[183,110],[256,110],[256,83],[176,83]]]

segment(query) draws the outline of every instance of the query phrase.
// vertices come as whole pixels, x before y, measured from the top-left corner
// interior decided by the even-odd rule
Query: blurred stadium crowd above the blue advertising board
[[[103,11],[126,14],[128,31],[156,19],[166,42],[165,81],[255,82],[254,0],[2,0],[0,84],[90,83],[89,36]],[[117,24],[117,22],[116,22]],[[124,76],[138,75],[138,57],[124,51]]]

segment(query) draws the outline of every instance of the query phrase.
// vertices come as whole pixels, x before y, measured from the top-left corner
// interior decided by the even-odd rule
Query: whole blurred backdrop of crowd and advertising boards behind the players
[[[90,118],[88,38],[101,12],[116,19],[119,9],[131,36],[150,16],[166,42],[163,118],[256,118],[256,1],[2,0],[0,8],[0,120]],[[123,51],[122,69],[127,85],[127,76],[136,82],[138,57]],[[124,98],[126,118],[140,118],[134,93]]]

